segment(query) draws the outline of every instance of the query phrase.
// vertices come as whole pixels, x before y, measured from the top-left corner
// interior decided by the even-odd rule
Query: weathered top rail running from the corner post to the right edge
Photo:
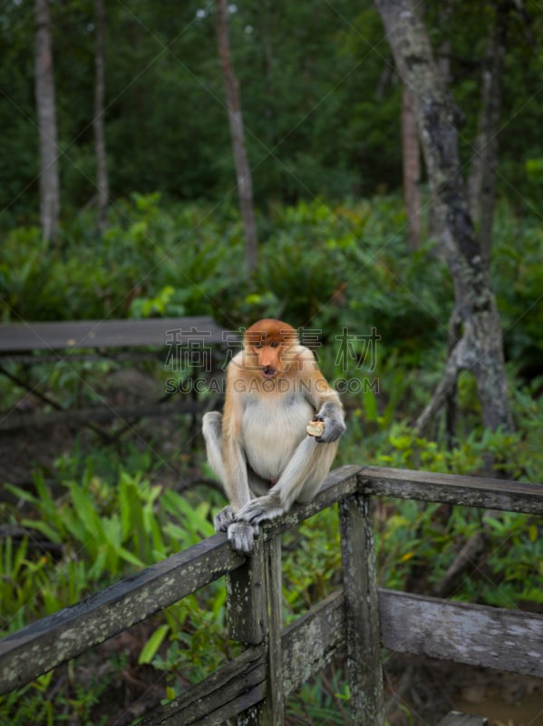
[[[543,515],[539,484],[380,466],[364,466],[359,481],[362,490],[372,495]]]

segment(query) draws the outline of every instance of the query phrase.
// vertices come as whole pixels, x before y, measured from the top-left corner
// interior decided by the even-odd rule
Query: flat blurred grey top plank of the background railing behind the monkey
[[[0,325],[0,353],[60,348],[123,348],[165,346],[168,333],[180,330],[186,344],[197,335],[202,343],[224,342],[222,330],[208,316],[192,318],[151,318],[144,320],[63,320]]]

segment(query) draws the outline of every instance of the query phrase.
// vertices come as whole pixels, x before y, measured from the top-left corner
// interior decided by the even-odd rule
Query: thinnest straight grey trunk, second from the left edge
[[[103,0],[95,0],[94,10],[96,15],[96,50],[94,56],[96,75],[94,80],[94,119],[92,125],[94,127],[94,148],[96,151],[98,230],[103,234],[106,228],[106,215],[110,195],[104,130],[105,61],[103,44],[105,36],[105,11]]]

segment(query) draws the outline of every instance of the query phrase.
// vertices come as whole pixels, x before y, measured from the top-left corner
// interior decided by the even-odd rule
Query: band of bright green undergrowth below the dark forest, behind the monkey
[[[275,205],[259,221],[253,280],[240,275],[243,232],[228,204],[164,204],[157,193],[134,193],[110,221],[100,238],[92,213],[81,213],[54,247],[35,228],[11,231],[0,263],[2,319],[209,314],[237,329],[276,315],[321,329],[325,341],[343,328],[358,335],[377,328],[387,351],[399,348],[412,362],[432,346],[443,354],[450,276],[431,240],[416,253],[407,249],[396,197]],[[541,353],[542,246],[537,218],[501,204],[492,281],[518,372],[536,366]]]

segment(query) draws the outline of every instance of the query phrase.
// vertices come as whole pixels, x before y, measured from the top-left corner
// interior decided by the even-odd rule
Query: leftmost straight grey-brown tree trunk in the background
[[[35,98],[40,132],[40,222],[45,240],[54,240],[60,215],[58,144],[54,108],[53,53],[48,0],[34,0]]]

